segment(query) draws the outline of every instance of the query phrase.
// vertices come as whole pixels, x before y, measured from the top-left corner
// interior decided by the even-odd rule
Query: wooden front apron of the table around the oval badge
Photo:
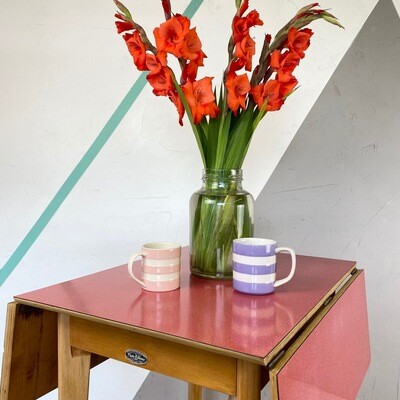
[[[147,358],[144,365],[137,365],[141,368],[236,394],[238,361],[234,357],[72,316],[70,335],[72,347],[131,365],[126,352],[135,350]]]

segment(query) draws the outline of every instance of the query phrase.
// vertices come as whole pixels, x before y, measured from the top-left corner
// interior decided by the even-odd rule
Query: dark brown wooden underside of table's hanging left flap
[[[57,387],[57,314],[9,303],[1,400],[35,400]]]

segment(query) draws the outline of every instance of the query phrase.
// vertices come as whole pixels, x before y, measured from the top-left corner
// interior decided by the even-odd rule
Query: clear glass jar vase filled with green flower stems
[[[232,278],[232,241],[254,234],[254,199],[242,188],[241,169],[205,169],[190,211],[190,271]]]

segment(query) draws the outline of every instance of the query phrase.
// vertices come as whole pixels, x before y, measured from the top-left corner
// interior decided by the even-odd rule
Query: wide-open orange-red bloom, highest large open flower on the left
[[[189,33],[189,28],[190,20],[180,14],[174,15],[168,21],[162,23],[159,28],[155,28],[153,31],[157,50],[171,53],[180,58],[183,41]]]

